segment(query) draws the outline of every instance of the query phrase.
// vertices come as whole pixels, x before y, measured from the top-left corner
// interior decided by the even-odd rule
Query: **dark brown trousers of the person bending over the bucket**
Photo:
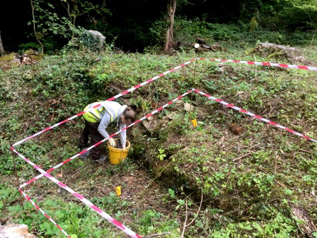
[[[87,146],[89,135],[91,136],[92,145],[104,139],[104,136],[102,136],[98,131],[99,124],[100,122],[89,122],[85,120],[85,128],[83,132],[81,133],[80,139],[78,141],[79,147]],[[90,154],[93,160],[98,160],[103,156],[103,152],[104,152],[104,142],[92,148]]]

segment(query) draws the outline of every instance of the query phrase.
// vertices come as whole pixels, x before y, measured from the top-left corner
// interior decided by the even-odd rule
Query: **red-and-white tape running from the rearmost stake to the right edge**
[[[196,60],[210,60],[210,61],[218,61],[218,62],[244,63],[244,64],[251,64],[251,65],[262,65],[262,66],[295,68],[295,69],[305,69],[305,70],[317,71],[317,67],[303,66],[303,65],[292,65],[292,64],[284,64],[284,63],[256,62],[256,61],[244,61],[244,60],[219,60],[219,59],[206,59],[206,58],[196,58]]]

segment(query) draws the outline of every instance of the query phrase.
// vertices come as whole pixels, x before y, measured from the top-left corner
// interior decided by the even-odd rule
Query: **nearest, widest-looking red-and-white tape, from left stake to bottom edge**
[[[41,174],[43,174],[48,179],[52,180],[54,183],[59,185],[60,187],[64,188],[71,194],[73,194],[75,197],[77,197],[80,201],[85,203],[87,206],[89,206],[91,209],[93,209],[95,212],[100,214],[102,217],[106,218],[107,221],[112,223],[114,226],[122,230],[125,234],[129,235],[132,238],[142,238],[141,236],[137,235],[135,232],[131,231],[129,228],[124,226],[122,223],[118,222],[114,218],[112,218],[110,215],[108,215],[106,212],[104,212],[102,209],[94,205],[91,201],[86,199],[83,195],[75,192],[70,187],[66,186],[64,183],[60,182],[58,179],[55,179],[52,175],[49,173],[46,173],[44,170],[42,170],[39,166],[35,165],[32,161],[27,159],[25,156],[21,155],[19,152],[17,152],[13,147],[11,147],[11,150],[15,152],[19,157],[21,157],[23,160],[25,160],[28,164],[32,165],[37,171],[39,171]]]

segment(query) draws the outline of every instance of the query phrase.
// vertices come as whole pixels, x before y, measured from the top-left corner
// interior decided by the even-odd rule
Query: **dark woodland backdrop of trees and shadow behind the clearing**
[[[54,54],[79,27],[100,31],[107,44],[124,52],[140,53],[166,51],[167,40],[172,41],[169,48],[179,46],[207,31],[213,41],[248,41],[252,34],[246,33],[256,32],[254,37],[270,43],[305,44],[317,28],[316,0],[26,0],[3,1],[1,9],[6,52],[43,44],[46,54]],[[173,22],[173,39],[166,39]],[[301,36],[290,37],[294,34]]]

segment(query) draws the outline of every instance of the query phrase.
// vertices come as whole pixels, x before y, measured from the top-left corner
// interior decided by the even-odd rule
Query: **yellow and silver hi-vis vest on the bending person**
[[[100,104],[100,102],[89,104],[86,106],[84,111],[87,112],[92,107],[94,107],[98,104]],[[120,108],[118,108],[118,110],[115,111],[111,107],[107,107],[107,105],[104,105],[104,106],[100,106],[98,108],[94,108],[92,111],[83,114],[83,117],[84,117],[84,119],[86,119],[89,122],[100,122],[102,120],[102,118],[105,114],[105,110],[106,110],[106,112],[110,115],[110,122],[112,122],[114,118],[118,117],[119,109]]]

